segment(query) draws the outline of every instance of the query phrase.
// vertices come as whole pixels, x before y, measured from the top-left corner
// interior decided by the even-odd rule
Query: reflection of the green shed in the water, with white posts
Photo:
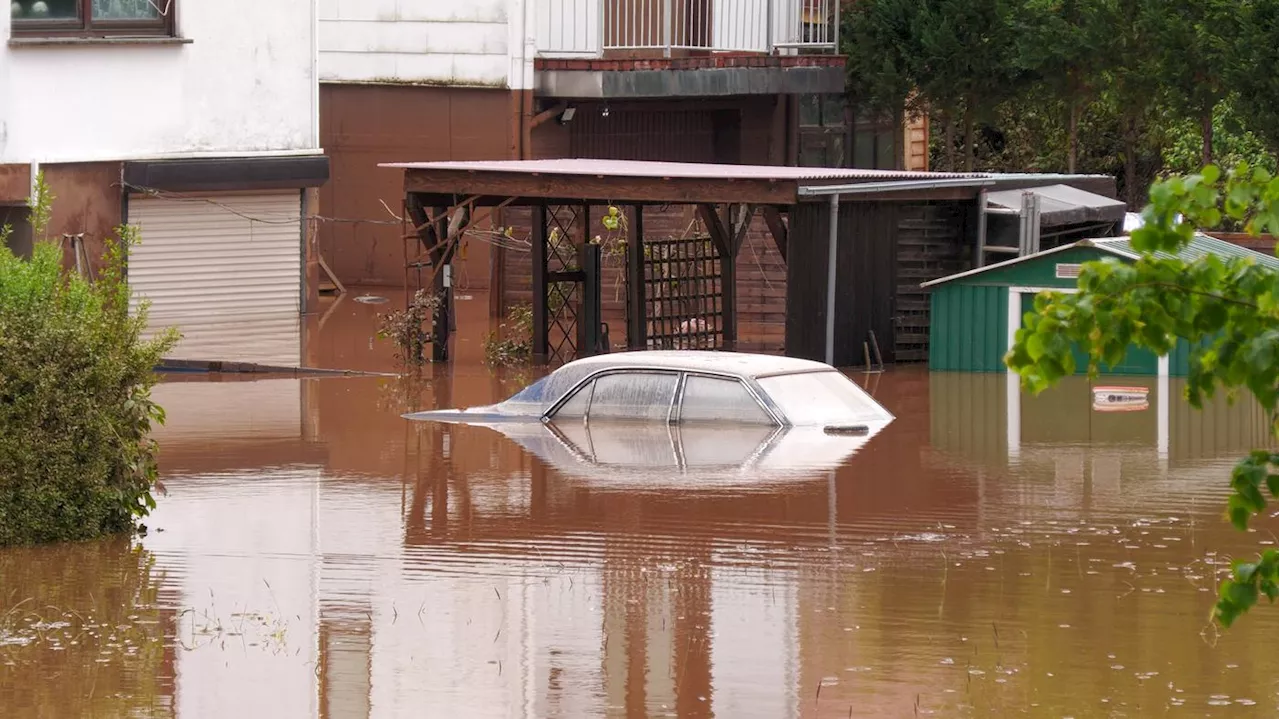
[[[1089,383],[1075,376],[1038,397],[1019,391],[1015,381],[996,374],[931,374],[931,443],[984,467],[1047,468],[1052,495],[1036,500],[1052,505],[1080,507],[1083,500],[1087,507],[1091,499],[1116,496],[1124,490],[1121,477],[1143,477],[1148,490],[1157,489],[1151,482],[1171,491],[1193,490],[1197,485],[1189,485],[1180,468],[1234,462],[1271,444],[1266,415],[1252,398],[1230,403],[1219,393],[1203,409],[1194,409],[1181,399],[1183,379]],[[1100,411],[1093,403],[1096,385],[1146,388],[1149,406]]]

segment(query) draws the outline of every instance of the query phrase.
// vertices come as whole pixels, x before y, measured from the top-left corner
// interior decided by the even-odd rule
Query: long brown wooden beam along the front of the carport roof
[[[404,191],[526,198],[564,198],[577,202],[672,205],[750,202],[794,205],[796,180],[724,178],[602,177],[594,174],[480,173],[468,170],[406,170]]]

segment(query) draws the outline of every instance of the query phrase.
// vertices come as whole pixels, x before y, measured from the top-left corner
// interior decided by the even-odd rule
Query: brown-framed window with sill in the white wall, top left
[[[173,35],[175,0],[12,0],[14,36]]]

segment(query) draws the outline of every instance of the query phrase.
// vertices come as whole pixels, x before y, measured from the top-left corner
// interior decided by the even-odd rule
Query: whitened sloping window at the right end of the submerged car
[[[792,425],[887,422],[893,416],[838,371],[758,380]]]

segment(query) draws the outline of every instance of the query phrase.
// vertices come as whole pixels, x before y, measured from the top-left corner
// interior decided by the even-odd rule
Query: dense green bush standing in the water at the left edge
[[[38,187],[31,260],[0,242],[0,545],[123,532],[155,508],[148,435],[164,411],[151,386],[178,340],[174,330],[141,338],[146,303],[129,315],[134,233],[106,243],[96,280],[64,271],[61,246],[44,238],[51,198]]]

